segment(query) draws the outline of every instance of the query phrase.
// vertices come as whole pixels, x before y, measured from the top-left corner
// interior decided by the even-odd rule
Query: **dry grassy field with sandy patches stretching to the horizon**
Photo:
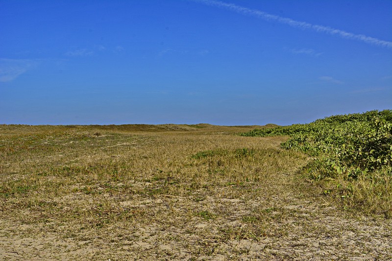
[[[269,126],[0,125],[3,260],[388,260]]]

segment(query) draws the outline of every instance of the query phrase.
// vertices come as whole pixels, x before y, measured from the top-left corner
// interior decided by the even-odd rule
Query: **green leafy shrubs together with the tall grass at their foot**
[[[391,216],[392,110],[337,115],[240,135],[290,136],[281,147],[314,157],[306,170],[312,181],[323,181],[324,192],[334,192],[346,206]]]

